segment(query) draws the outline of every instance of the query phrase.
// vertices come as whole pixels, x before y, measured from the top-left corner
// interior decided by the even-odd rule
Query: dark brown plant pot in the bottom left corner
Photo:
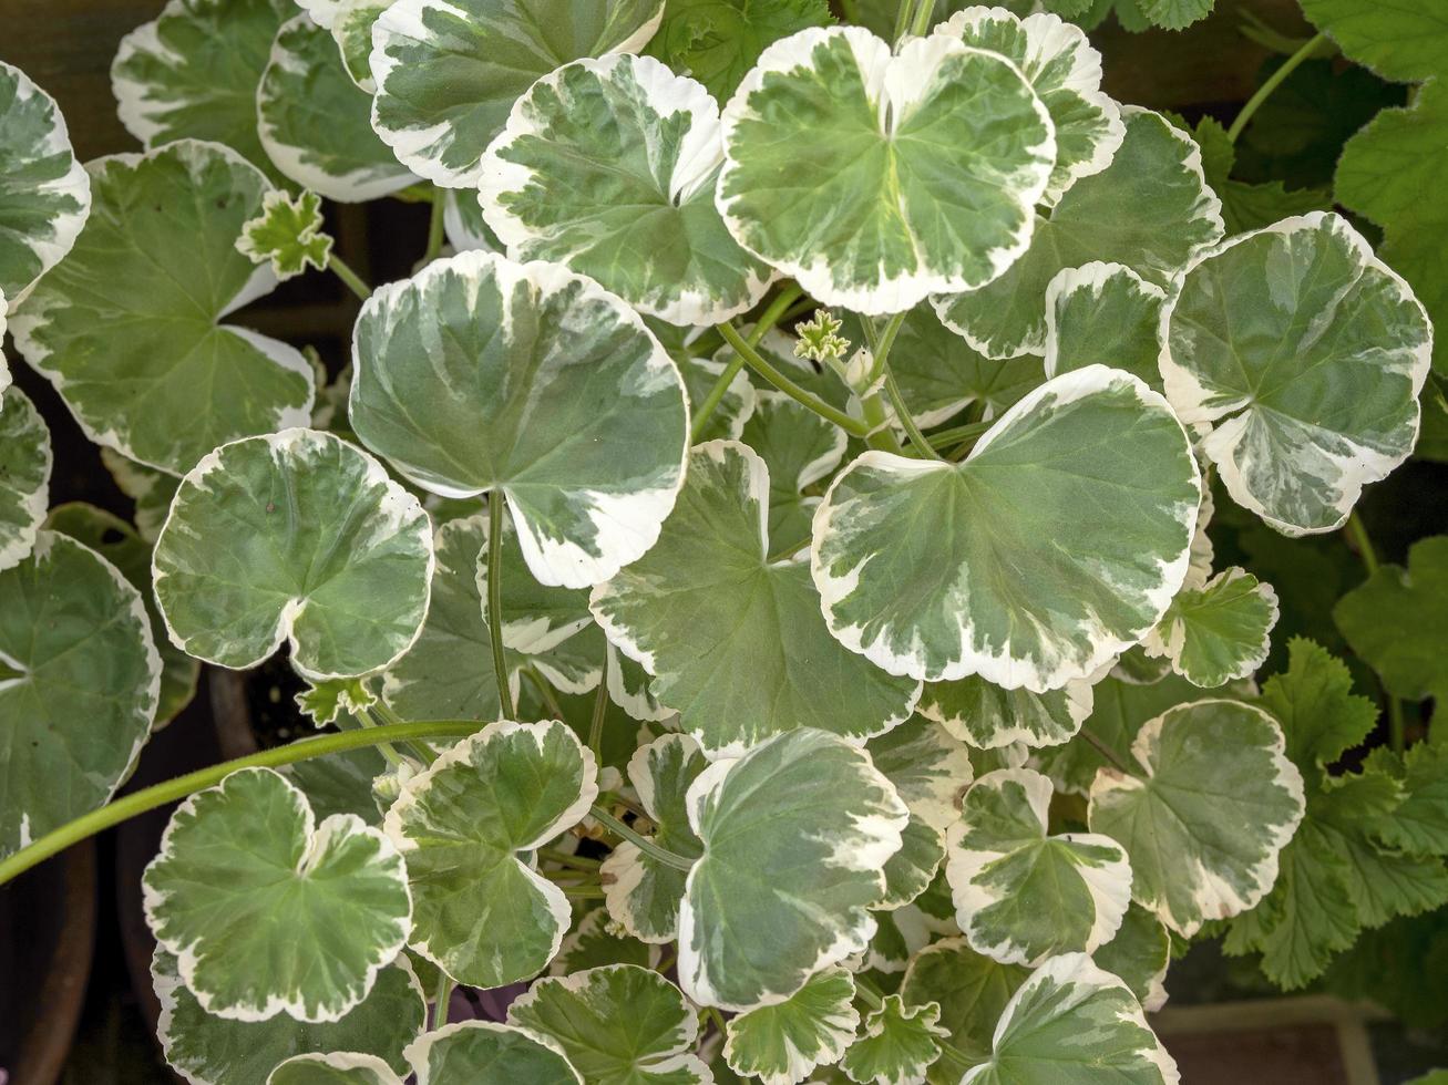
[[[0,1082],[54,1085],[96,952],[94,842],[0,890]]]

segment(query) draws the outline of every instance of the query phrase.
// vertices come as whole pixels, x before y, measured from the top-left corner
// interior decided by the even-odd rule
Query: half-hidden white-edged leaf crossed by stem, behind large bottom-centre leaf
[[[662,735],[628,761],[633,784],[656,830],[652,839],[675,855],[696,859],[704,845],[689,825],[689,786],[708,767],[699,744],[688,735]],[[627,841],[604,859],[604,903],[608,914],[643,942],[672,942],[679,933],[679,901],[685,871],[644,855]]]

